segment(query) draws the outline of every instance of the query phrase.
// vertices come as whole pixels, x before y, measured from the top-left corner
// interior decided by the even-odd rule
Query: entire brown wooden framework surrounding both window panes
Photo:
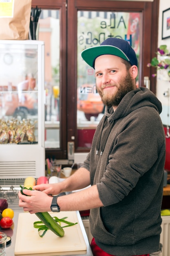
[[[154,68],[147,63],[157,52],[159,0],[153,2],[113,1],[113,0],[32,0],[32,7],[42,9],[60,9],[60,148],[46,149],[46,157],[67,159],[67,141],[75,142],[76,152],[85,152],[77,148],[77,11],[139,11],[143,13],[141,38],[141,58],[139,72],[140,85],[144,76],[150,78],[150,90],[156,94],[156,79],[152,77]],[[150,28],[150,33],[148,29]],[[88,150],[87,150],[88,151]]]

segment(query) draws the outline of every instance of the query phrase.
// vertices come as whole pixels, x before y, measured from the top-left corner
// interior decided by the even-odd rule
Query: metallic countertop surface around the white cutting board
[[[10,202],[10,200],[8,201],[8,207],[13,209],[14,211],[14,217],[13,217],[13,222],[14,225],[12,226],[12,229],[1,229],[1,231],[5,232],[7,234],[7,236],[11,236],[11,244],[7,245],[6,248],[6,252],[4,254],[2,254],[2,256],[14,256],[14,250],[15,250],[15,239],[16,239],[16,231],[17,231],[17,225],[18,225],[18,215],[19,213],[23,212],[23,209],[18,207],[18,198],[15,199],[15,202]],[[72,255],[72,256],[93,256],[92,251],[91,251],[91,247],[90,244],[88,242],[88,238],[86,235],[86,231],[84,229],[84,225],[82,222],[82,218],[79,214],[79,211],[76,212],[77,213],[77,218],[79,220],[79,225],[81,227],[82,230],[82,234],[84,236],[84,240],[87,246],[87,250],[86,251],[82,251],[82,252],[60,252],[60,253],[43,253],[43,254],[24,254],[24,256],[59,256],[59,255]],[[23,234],[24,235],[24,234]]]

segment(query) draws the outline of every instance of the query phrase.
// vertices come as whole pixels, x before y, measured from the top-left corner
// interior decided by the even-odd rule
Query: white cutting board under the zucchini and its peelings
[[[68,217],[70,222],[78,222],[76,211],[49,212],[52,217]],[[64,228],[64,236],[56,236],[48,230],[43,237],[38,234],[38,229],[33,227],[33,222],[40,220],[35,214],[19,213],[18,227],[15,241],[15,254],[38,254],[50,252],[76,252],[86,251],[86,243],[79,222],[71,227]],[[62,224],[64,225],[64,223]]]

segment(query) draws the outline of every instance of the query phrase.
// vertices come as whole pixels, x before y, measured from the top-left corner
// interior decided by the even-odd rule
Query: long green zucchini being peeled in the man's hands
[[[23,188],[21,185],[21,193],[22,195],[25,195],[23,193],[23,189],[27,189],[27,188]],[[29,188],[30,190],[32,190],[32,188]],[[58,225],[58,223],[51,217],[51,215],[46,211],[46,212],[38,212],[35,213],[35,215],[44,223],[44,225],[46,225],[46,227],[48,227],[54,234],[56,234],[57,236],[64,236],[64,229]]]

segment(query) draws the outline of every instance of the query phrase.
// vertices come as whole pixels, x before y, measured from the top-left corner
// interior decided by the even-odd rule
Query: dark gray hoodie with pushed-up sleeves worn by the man
[[[91,233],[99,247],[116,256],[159,249],[165,164],[161,102],[138,88],[105,108],[84,162],[104,207],[91,209]]]

